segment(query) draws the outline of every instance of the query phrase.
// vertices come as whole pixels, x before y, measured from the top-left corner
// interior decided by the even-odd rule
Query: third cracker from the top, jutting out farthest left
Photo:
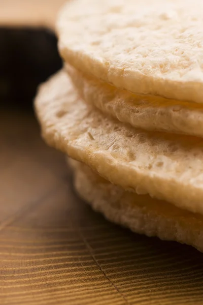
[[[48,144],[138,194],[203,213],[203,140],[146,132],[79,99],[66,73],[39,89],[36,110]]]

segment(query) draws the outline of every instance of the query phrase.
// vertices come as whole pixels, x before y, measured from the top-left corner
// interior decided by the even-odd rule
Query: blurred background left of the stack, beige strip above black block
[[[0,105],[31,109],[39,83],[61,68],[54,35],[68,0],[0,0]]]

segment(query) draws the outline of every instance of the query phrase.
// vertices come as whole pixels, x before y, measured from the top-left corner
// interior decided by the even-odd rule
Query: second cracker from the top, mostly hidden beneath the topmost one
[[[122,122],[146,130],[203,136],[203,105],[141,96],[117,89],[66,65],[83,100]]]

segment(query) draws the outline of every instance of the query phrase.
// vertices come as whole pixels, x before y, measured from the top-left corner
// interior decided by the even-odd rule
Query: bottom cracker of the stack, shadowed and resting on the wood
[[[79,195],[107,219],[136,233],[187,243],[203,252],[203,216],[148,195],[125,192],[87,166],[69,160]]]

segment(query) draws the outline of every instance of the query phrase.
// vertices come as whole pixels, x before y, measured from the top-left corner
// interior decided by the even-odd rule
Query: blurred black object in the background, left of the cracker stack
[[[0,104],[32,107],[37,86],[62,66],[45,28],[0,28]]]

